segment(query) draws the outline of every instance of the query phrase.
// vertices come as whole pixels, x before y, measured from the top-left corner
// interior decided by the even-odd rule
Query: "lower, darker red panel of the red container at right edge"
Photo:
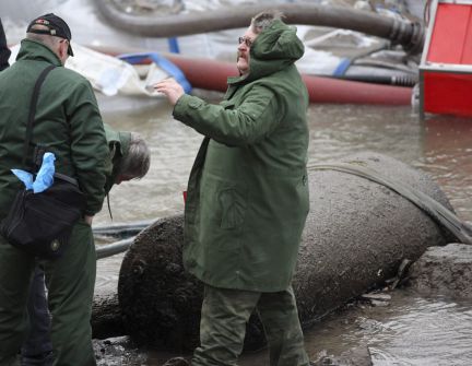
[[[472,116],[472,74],[424,73],[424,110]]]

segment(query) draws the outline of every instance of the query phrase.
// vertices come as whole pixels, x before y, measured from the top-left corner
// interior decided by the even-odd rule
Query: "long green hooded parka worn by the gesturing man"
[[[292,281],[309,210],[308,94],[294,64],[303,54],[296,29],[275,21],[220,105],[184,95],[174,108],[205,135],[188,184],[184,263],[209,285],[278,292]]]

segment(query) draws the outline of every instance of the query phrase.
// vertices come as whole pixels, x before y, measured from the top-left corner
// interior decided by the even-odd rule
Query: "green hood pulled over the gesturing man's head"
[[[250,48],[249,73],[228,78],[228,83],[270,75],[294,63],[304,52],[305,46],[296,35],[296,27],[275,20],[258,35]]]

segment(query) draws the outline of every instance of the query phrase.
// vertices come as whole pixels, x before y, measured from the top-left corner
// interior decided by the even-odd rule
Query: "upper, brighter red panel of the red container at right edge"
[[[472,63],[471,12],[471,5],[438,3],[427,61]]]

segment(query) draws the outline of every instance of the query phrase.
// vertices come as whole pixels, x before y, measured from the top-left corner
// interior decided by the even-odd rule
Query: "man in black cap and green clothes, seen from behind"
[[[27,27],[16,62],[0,73],[0,220],[10,210],[22,182],[10,172],[28,168],[36,146],[56,155],[56,172],[76,178],[85,196],[83,219],[73,227],[63,253],[39,259],[52,314],[55,365],[95,365],[90,318],[96,256],[93,215],[102,209],[110,163],[108,146],[92,86],[63,68],[72,56],[71,32],[55,14],[35,19]],[[32,92],[39,74],[55,66],[40,86],[32,143],[24,155],[25,126]],[[26,302],[37,259],[0,237],[0,365],[16,365],[27,331]]]

